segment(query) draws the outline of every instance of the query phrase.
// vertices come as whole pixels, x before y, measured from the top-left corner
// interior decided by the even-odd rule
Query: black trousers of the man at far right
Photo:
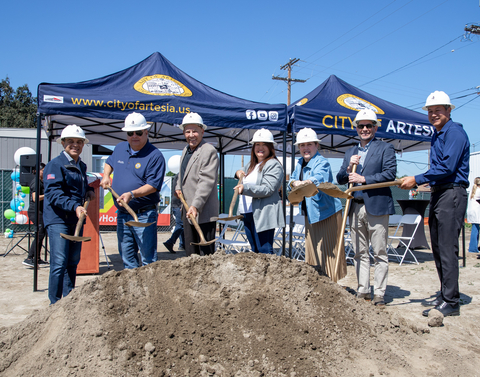
[[[467,192],[462,187],[433,192],[428,225],[432,252],[440,279],[443,300],[458,305],[458,237],[467,209]]]

